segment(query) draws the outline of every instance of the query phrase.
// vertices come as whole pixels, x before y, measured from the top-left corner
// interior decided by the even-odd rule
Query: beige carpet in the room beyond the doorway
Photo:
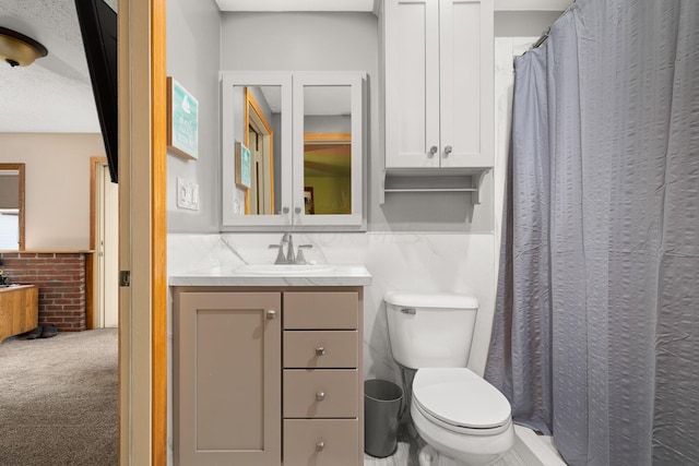
[[[0,345],[0,465],[118,464],[116,328]]]

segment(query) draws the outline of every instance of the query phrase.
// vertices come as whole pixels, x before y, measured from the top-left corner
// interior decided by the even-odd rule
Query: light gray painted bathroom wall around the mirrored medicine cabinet
[[[520,22],[512,21],[520,15]],[[496,16],[499,35],[517,26],[530,35],[550,24],[553,14]],[[524,20],[524,21],[522,21]],[[168,157],[168,231],[216,232],[220,200],[220,70],[365,71],[368,75],[368,228],[376,231],[491,232],[493,175],[486,176],[482,203],[467,193],[389,194],[379,204],[383,171],[383,127],[379,119],[379,20],[371,13],[218,12],[213,0],[168,1],[168,75],[200,104],[200,157]],[[198,212],[176,205],[176,177],[197,182]]]

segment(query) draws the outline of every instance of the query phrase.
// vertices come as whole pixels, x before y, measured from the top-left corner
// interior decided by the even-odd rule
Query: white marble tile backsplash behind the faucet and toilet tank
[[[213,267],[273,263],[281,234],[170,234],[169,275]],[[389,290],[463,292],[478,299],[469,366],[483,373],[495,302],[495,237],[472,234],[321,232],[294,234],[294,244],[312,244],[306,259],[362,264],[372,276],[365,289],[365,379],[400,382],[391,356],[383,295]]]

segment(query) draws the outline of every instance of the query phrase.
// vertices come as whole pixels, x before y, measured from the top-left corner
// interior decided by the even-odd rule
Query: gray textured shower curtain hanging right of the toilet
[[[699,464],[699,2],[578,0],[512,118],[486,379],[570,465]]]

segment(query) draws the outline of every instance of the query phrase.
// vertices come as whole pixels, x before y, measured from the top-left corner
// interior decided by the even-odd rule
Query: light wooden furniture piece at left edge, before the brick
[[[0,343],[38,326],[38,288],[20,285],[0,288]]]

